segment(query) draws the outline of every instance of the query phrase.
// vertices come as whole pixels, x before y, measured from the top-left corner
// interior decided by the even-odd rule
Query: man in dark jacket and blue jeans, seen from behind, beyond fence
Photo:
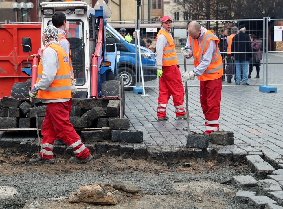
[[[240,85],[241,82],[241,66],[243,67],[243,85],[248,84],[248,66],[249,58],[252,57],[251,40],[249,35],[245,34],[246,26],[239,26],[239,33],[233,37],[231,47],[231,58],[235,59],[236,64],[236,85]],[[234,53],[242,52],[242,53]]]

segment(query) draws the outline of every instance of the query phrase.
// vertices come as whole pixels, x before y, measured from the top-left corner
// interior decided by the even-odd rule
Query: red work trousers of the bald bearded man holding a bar
[[[199,82],[201,108],[204,114],[206,134],[219,131],[219,114],[222,90],[222,77]]]

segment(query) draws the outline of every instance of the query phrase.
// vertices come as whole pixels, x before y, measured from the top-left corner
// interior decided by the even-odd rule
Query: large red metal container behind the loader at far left
[[[0,98],[11,95],[14,83],[26,82],[31,78],[21,71],[21,63],[27,62],[28,56],[22,50],[23,37],[30,37],[30,54],[37,54],[41,45],[41,24],[0,25]],[[31,57],[29,62],[32,63]]]

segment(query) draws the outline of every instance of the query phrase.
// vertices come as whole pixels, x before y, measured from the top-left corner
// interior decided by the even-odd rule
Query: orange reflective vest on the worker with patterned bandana
[[[53,82],[50,86],[45,89],[38,91],[38,98],[41,99],[65,99],[71,98],[71,79],[70,79],[70,68],[69,68],[69,57],[60,47],[59,44],[50,44],[48,47],[51,47],[57,52],[58,59],[59,59],[59,69],[55,75]],[[43,54],[45,52],[43,50]],[[38,77],[36,83],[38,83],[43,75],[43,68],[42,68],[42,59],[39,61],[38,64]]]

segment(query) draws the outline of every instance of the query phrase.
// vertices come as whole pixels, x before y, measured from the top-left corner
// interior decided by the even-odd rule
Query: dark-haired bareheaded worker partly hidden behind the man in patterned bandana
[[[77,92],[77,88],[76,85],[74,83],[74,72],[73,72],[73,66],[72,66],[72,59],[71,59],[71,47],[70,47],[70,42],[68,41],[68,39],[66,38],[66,26],[67,26],[67,19],[66,19],[66,15],[63,12],[56,12],[52,15],[52,24],[57,28],[58,30],[58,42],[60,47],[62,47],[62,49],[64,49],[64,51],[66,52],[66,54],[69,55],[69,67],[70,67],[70,75],[71,75],[71,84],[72,84],[72,96],[76,94]],[[72,101],[72,98],[71,98]],[[72,105],[72,102],[70,102],[70,104]],[[71,111],[69,112],[69,114],[71,113]],[[65,142],[63,142],[62,140],[60,140],[59,137],[56,137],[55,139],[55,144],[58,145],[66,145]]]

